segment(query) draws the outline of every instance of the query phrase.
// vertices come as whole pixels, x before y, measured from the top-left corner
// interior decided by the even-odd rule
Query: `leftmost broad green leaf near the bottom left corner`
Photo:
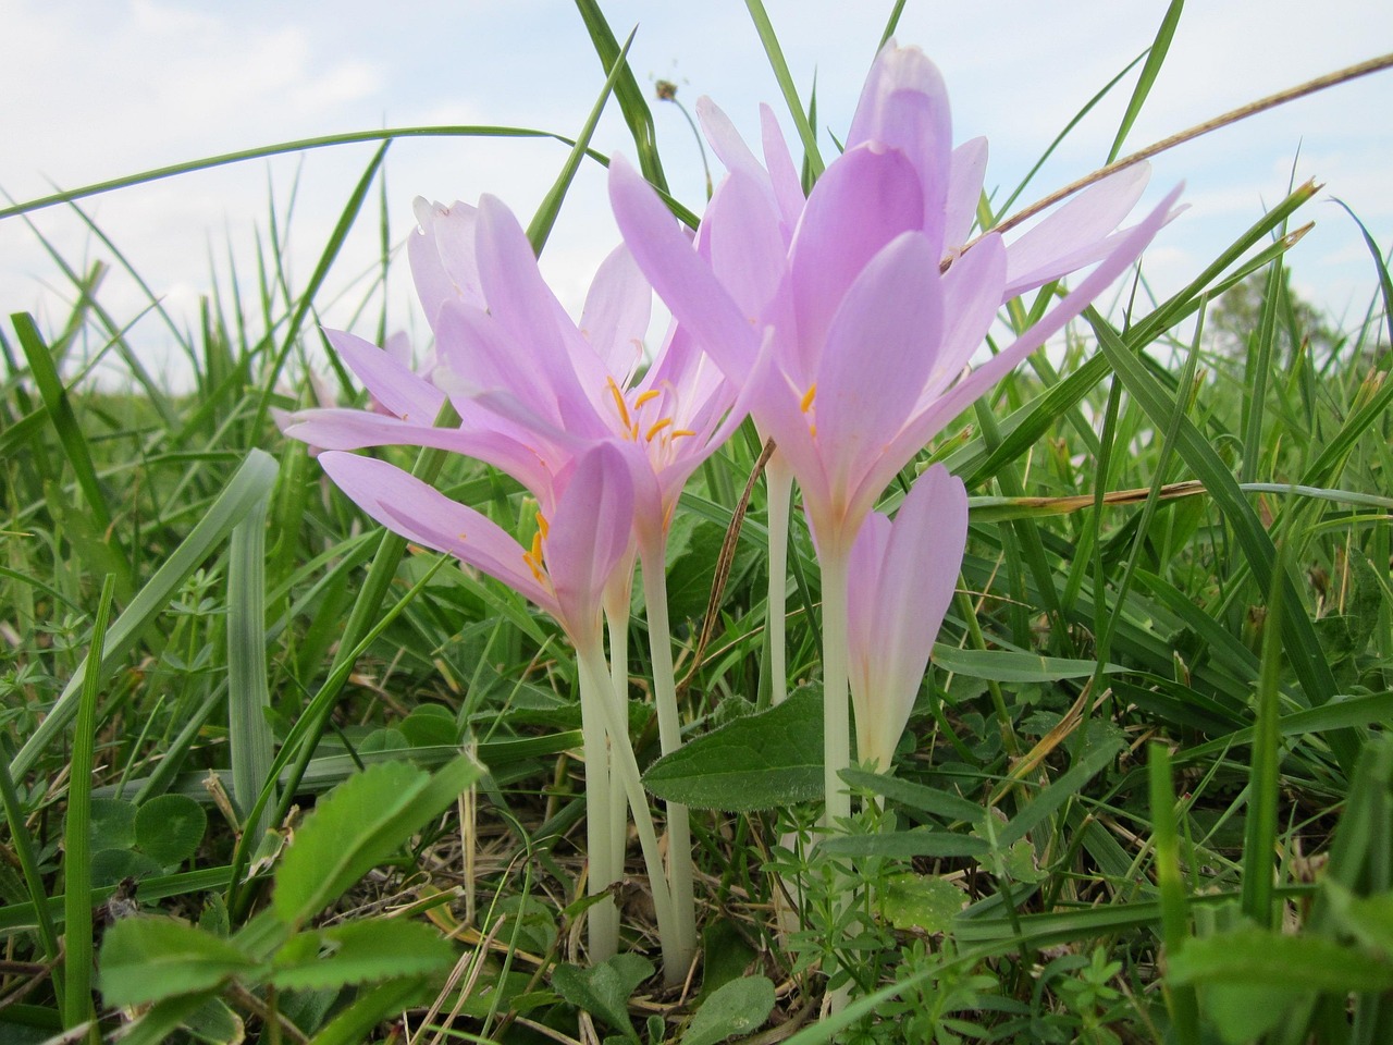
[[[173,918],[123,918],[102,943],[98,986],[107,1005],[194,993],[256,968],[241,947]]]

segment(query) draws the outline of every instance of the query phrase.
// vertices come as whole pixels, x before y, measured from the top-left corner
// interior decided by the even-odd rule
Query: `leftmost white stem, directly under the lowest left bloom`
[[[598,651],[603,662],[603,651]],[[605,684],[596,688],[593,672],[585,656],[577,653],[581,667],[581,736],[585,743],[585,847],[589,858],[586,892],[599,896],[616,881],[613,850],[613,804],[610,780],[610,752],[606,741],[606,713],[614,687],[609,672]],[[623,818],[623,807],[620,807]],[[618,953],[618,907],[606,897],[589,908],[586,915],[591,961],[605,961]]]

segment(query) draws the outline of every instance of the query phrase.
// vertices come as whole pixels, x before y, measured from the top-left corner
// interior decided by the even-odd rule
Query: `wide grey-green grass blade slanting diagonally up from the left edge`
[[[252,510],[256,502],[266,496],[274,481],[274,458],[260,450],[252,450],[189,535],[111,624],[111,630],[106,635],[100,665],[102,674],[109,674],[117,662],[135,647],[141,634],[164,610],[189,574],[221,545],[231,534],[233,527]],[[86,670],[85,663],[86,659],[84,659],[84,666],[78,669],[78,674]],[[18,779],[32,769],[39,755],[49,748],[77,715],[79,686],[78,679],[68,683],[53,708],[49,709],[47,716],[20,748],[20,754],[10,764],[10,773],[14,777]]]

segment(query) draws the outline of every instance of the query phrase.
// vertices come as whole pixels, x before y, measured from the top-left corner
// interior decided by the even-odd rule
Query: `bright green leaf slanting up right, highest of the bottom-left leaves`
[[[481,772],[460,757],[433,777],[404,762],[357,773],[305,818],[276,871],[273,907],[291,925],[319,913],[446,808]]]

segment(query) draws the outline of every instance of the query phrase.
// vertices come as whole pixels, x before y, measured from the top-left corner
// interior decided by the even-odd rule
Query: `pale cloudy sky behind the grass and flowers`
[[[826,131],[847,127],[892,4],[766,4],[800,88],[807,93],[816,79],[822,141],[830,150]],[[756,127],[761,100],[783,111],[742,3],[605,0],[603,8],[620,38],[638,25],[631,63],[645,88],[671,79],[688,104],[710,95],[747,132]],[[1165,8],[1163,0],[910,0],[898,39],[921,45],[943,68],[956,139],[986,134],[988,185],[1009,191],[1074,113],[1151,42]],[[567,0],[0,0],[0,26],[11,45],[0,64],[0,189],[17,201],[54,185],[340,131],[496,124],[573,134],[603,82]],[[1390,50],[1393,4],[1191,3],[1126,150]],[[1131,84],[1124,81],[1085,120],[1022,202],[1106,159]],[[1393,244],[1390,111],[1393,71],[1159,157],[1148,199],[1184,180],[1190,210],[1148,252],[1146,272],[1158,290],[1178,287],[1280,199],[1294,164],[1298,180],[1325,183],[1321,201],[1304,212],[1316,230],[1291,258],[1295,283],[1337,318],[1362,315],[1373,290],[1368,255],[1358,230],[1326,199],[1340,196],[1385,248]],[[670,104],[655,103],[655,118],[674,192],[699,212],[702,176],[687,124]],[[632,155],[617,111],[606,116],[595,146]],[[355,145],[255,160],[82,206],[167,307],[192,322],[215,279],[210,266],[224,294],[230,268],[244,294],[251,291],[256,237],[269,234],[272,201],[286,234],[293,191],[286,258],[291,279],[304,283],[371,155],[371,146]],[[417,195],[449,202],[492,192],[525,223],[564,156],[554,142],[398,141],[387,162],[391,237],[400,241],[411,227]],[[326,308],[327,322],[348,323],[366,293],[376,210],[373,202],[329,281],[337,302]],[[110,258],[71,209],[32,217],[72,265]],[[578,307],[614,240],[602,171],[588,164],[543,256],[563,301]],[[21,219],[0,222],[0,297],[6,314],[36,311],[50,326],[61,322],[63,301],[71,297]],[[120,322],[135,319],[146,304],[120,273],[110,276],[100,300]],[[404,279],[393,284],[389,308],[394,327],[421,327]],[[131,337],[159,365],[167,339],[157,325],[145,318]]]

